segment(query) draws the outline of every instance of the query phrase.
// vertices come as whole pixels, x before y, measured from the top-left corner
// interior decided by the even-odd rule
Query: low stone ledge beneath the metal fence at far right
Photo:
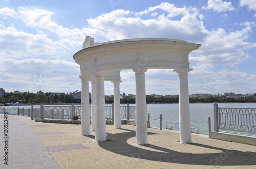
[[[256,146],[256,136],[228,132],[210,131],[209,138]]]

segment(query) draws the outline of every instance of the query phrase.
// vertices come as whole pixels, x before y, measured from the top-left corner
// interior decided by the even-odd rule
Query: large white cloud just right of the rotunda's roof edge
[[[256,43],[246,41],[254,22],[245,22],[241,25],[246,27],[229,34],[222,28],[211,31],[199,50],[193,51],[190,61],[229,66],[246,61],[250,56],[245,49],[256,47]]]

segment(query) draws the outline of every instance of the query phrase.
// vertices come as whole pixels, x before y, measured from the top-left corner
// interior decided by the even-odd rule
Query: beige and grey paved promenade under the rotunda
[[[148,145],[135,144],[135,126],[113,129],[96,142],[95,132],[80,135],[80,125],[39,123],[8,116],[8,151],[0,115],[0,168],[256,168],[256,146],[193,134],[179,143],[179,132],[148,129]],[[4,155],[8,152],[8,165]]]

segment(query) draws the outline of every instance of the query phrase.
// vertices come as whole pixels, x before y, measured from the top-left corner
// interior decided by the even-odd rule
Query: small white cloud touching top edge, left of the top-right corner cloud
[[[233,11],[235,8],[231,2],[223,2],[222,0],[208,0],[207,6],[202,9],[212,9],[215,12]]]

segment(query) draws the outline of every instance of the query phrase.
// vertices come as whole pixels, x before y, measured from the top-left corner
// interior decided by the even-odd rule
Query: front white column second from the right
[[[144,69],[133,69],[136,76],[136,144],[147,144],[146,90]]]

